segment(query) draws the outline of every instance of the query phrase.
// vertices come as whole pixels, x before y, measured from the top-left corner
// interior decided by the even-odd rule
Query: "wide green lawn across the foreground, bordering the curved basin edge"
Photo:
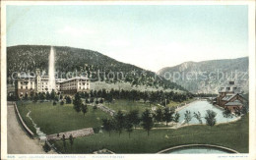
[[[96,133],[75,138],[71,147],[67,140],[66,153],[92,153],[107,148],[115,153],[157,153],[162,149],[192,143],[208,143],[232,148],[238,152],[248,152],[248,117],[214,127],[190,126],[177,130],[153,130],[150,136],[143,130],[131,133]],[[63,142],[55,141],[55,146],[64,153]]]

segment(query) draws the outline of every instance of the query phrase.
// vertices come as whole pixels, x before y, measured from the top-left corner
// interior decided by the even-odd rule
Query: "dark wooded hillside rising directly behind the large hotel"
[[[34,72],[35,69],[39,69],[47,75],[50,47],[46,45],[7,47],[8,83],[13,82],[11,78],[15,72]],[[55,50],[55,71],[58,78],[67,78],[69,72],[73,74],[78,72],[78,75],[88,74],[95,81],[100,80],[108,84],[118,82],[118,86],[121,85],[120,82],[126,84],[129,82],[134,87],[145,86],[145,88],[155,87],[187,91],[175,82],[161,79],[151,71],[118,62],[96,51],[67,46],[54,46],[53,48]],[[96,72],[100,72],[100,79],[98,79]],[[105,79],[105,77],[110,77],[110,79]]]

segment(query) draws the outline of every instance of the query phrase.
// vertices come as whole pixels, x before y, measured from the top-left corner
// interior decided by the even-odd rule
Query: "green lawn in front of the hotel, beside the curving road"
[[[18,105],[19,111],[28,125],[35,133],[32,127],[32,121],[26,117],[29,110],[32,111],[31,117],[37,127],[43,133],[62,133],[84,128],[100,127],[102,118],[109,117],[108,114],[101,110],[94,110],[92,106],[88,106],[88,113],[84,116],[82,112],[77,113],[73,109],[73,104],[52,105],[52,102],[32,103],[24,102]]]

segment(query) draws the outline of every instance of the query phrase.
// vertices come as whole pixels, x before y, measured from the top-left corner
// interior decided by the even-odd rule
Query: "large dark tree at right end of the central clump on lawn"
[[[150,131],[154,126],[153,117],[150,113],[149,109],[146,109],[142,114],[142,126],[148,132],[148,136],[150,135]]]

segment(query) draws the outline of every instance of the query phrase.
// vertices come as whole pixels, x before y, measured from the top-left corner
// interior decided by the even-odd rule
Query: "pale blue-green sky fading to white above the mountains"
[[[7,46],[90,49],[154,72],[248,56],[243,5],[9,5],[6,21]]]

